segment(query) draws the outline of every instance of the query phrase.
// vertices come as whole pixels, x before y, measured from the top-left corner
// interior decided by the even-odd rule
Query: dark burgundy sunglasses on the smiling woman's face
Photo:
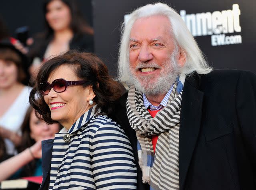
[[[64,92],[70,85],[82,85],[86,81],[66,81],[65,79],[55,79],[52,84],[48,82],[42,82],[39,85],[39,91],[42,95],[48,95],[53,88],[55,92]]]

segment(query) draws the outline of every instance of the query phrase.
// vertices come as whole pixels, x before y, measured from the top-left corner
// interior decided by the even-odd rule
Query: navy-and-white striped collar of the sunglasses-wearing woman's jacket
[[[86,124],[90,119],[95,115],[95,107],[91,107],[86,113],[84,113],[81,117],[76,120],[76,122],[68,129],[68,133],[72,134],[78,131],[84,124]]]

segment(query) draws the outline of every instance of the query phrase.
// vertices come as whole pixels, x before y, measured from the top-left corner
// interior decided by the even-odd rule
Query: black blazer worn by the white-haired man
[[[124,94],[112,119],[129,137],[142,184],[136,134],[126,116]],[[256,75],[216,70],[186,77],[179,137],[180,190],[256,189]]]

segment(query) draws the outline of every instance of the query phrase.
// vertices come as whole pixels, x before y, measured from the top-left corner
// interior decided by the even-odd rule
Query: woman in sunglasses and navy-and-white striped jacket
[[[48,150],[42,150],[48,152],[43,163],[51,164],[44,168],[50,177],[43,173],[41,189],[136,189],[132,147],[107,116],[121,92],[91,53],[67,52],[40,67],[30,103],[46,123],[64,127],[54,141],[42,144]]]

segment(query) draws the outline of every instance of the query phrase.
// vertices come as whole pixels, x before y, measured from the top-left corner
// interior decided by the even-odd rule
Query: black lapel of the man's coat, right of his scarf
[[[186,174],[200,131],[204,93],[198,90],[200,76],[186,77],[180,115],[179,173],[180,190],[184,190]]]

